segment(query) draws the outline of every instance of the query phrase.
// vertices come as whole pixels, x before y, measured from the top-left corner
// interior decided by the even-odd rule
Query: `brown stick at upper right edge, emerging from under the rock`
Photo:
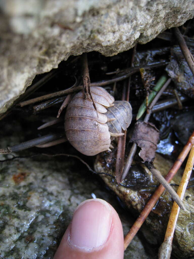
[[[178,44],[181,48],[181,51],[183,53],[183,56],[194,76],[194,59],[193,56],[191,54],[191,52],[189,51],[188,47],[186,46],[186,42],[183,38],[183,35],[181,34],[181,32],[179,31],[179,29],[177,27],[173,28],[173,31],[175,33],[175,36],[178,40]]]

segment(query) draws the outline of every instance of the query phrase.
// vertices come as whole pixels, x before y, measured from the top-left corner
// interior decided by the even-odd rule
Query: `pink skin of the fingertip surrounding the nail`
[[[108,236],[101,245],[97,245],[95,248],[92,248],[92,249],[85,249],[83,247],[80,248],[78,246],[75,246],[71,242],[71,239],[73,239],[72,238],[73,233],[71,232],[72,224],[74,224],[71,222],[68,228],[66,229],[65,234],[63,235],[63,238],[58,247],[58,250],[56,251],[56,254],[54,256],[54,259],[70,259],[70,258],[71,259],[73,258],[123,259],[123,254],[124,254],[123,229],[122,229],[120,218],[118,217],[118,214],[114,210],[114,208],[110,204],[108,204],[107,202],[101,199],[86,200],[85,202],[81,203],[77,207],[76,211],[74,212],[73,222],[74,222],[74,218],[76,218],[76,213],[78,209],[80,209],[80,207],[82,207],[83,213],[84,213],[84,210],[85,211],[96,210],[97,214],[101,212],[103,213],[104,207],[108,208],[108,210],[110,211],[110,231],[108,233]],[[84,224],[88,224],[87,215],[86,215],[86,220],[83,220],[82,227],[85,227]],[[105,220],[105,224],[109,225],[109,223],[106,223],[106,220]],[[101,225],[99,225],[99,228],[98,226],[94,226],[94,229],[95,229],[94,235],[96,235],[96,232],[101,231],[103,228],[106,228],[107,227],[106,225],[102,224],[102,228],[101,228]]]

